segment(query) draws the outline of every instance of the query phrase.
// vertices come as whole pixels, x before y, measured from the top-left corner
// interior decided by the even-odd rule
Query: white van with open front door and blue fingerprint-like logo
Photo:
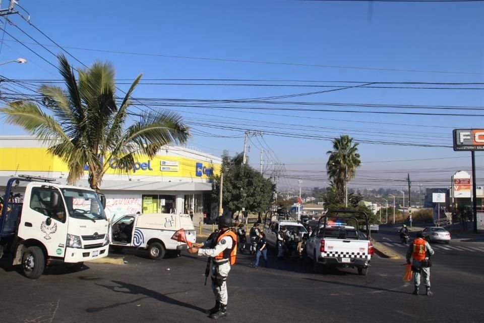
[[[129,214],[112,219],[109,244],[115,251],[126,247],[148,249],[149,257],[158,260],[167,253],[175,255],[188,248],[185,242],[171,239],[181,229],[187,241],[194,243],[196,231],[189,214]]]

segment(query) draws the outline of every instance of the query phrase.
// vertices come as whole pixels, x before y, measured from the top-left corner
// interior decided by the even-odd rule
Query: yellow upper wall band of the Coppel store
[[[46,148],[0,148],[0,155],[0,171],[69,172],[61,159],[47,154]],[[162,161],[167,163],[162,165]],[[166,165],[170,162],[177,163],[177,166]],[[202,164],[202,168],[198,170],[201,176],[197,176],[197,163]],[[209,176],[203,170],[212,167],[214,174],[220,173],[220,165],[211,165],[207,161],[175,156],[155,156],[153,159],[141,156],[136,160],[136,170],[131,170],[130,174],[207,179]],[[106,174],[118,174],[118,171],[108,166]]]

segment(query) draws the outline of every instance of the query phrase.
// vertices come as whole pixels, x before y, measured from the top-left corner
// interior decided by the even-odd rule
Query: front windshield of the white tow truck
[[[106,219],[99,196],[95,192],[64,188],[62,193],[64,194],[70,217],[91,221]]]

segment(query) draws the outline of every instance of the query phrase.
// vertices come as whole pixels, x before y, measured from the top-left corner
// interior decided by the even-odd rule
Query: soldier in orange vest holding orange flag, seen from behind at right
[[[429,257],[434,254],[434,249],[424,239],[425,235],[422,232],[417,233],[417,238],[408,246],[406,258],[407,263],[412,264],[413,282],[415,289],[413,295],[418,295],[418,286],[420,286],[420,274],[423,275],[423,283],[426,288],[426,295],[432,296],[434,293],[430,291],[430,266],[432,263]],[[410,258],[413,261],[410,262]]]

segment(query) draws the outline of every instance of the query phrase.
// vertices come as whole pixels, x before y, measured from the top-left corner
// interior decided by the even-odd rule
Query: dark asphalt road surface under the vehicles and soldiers
[[[88,263],[77,273],[57,267],[38,280],[26,279],[0,262],[0,322],[211,321],[203,312],[214,303],[210,279],[203,284],[205,258],[184,252],[152,261],[143,252],[130,252],[125,259],[125,265]],[[252,259],[239,255],[232,268],[229,315],[222,320],[482,322],[484,317],[484,278],[469,270],[477,267],[475,257],[462,257],[466,263],[458,268],[436,256],[434,297],[410,294],[412,286],[402,281],[401,259],[375,257],[368,276],[358,276],[351,268],[313,274],[311,265],[278,261],[273,252],[269,268],[250,267]]]

